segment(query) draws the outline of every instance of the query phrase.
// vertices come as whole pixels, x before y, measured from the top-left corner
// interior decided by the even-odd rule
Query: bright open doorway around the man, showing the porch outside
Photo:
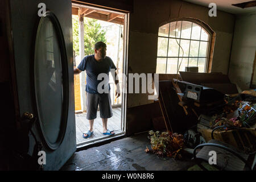
[[[80,64],[84,56],[94,54],[96,42],[105,42],[107,45],[106,56],[109,56],[117,67],[119,84],[122,88],[121,75],[125,73],[126,69],[126,22],[127,14],[72,3],[74,67]],[[85,139],[82,138],[82,133],[89,130],[89,121],[86,119],[86,72],[74,75],[76,143],[78,148],[113,137],[121,137],[125,134],[125,95],[122,94],[121,89],[121,96],[115,97],[114,80],[112,76],[109,78],[113,117],[108,119],[108,129],[114,130],[115,135],[102,134],[102,121],[98,110],[97,118],[94,119],[92,137]]]

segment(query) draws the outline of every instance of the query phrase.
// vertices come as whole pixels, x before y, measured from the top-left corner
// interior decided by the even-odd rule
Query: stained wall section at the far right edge
[[[256,12],[237,15],[234,28],[229,78],[237,84],[238,92],[248,90],[256,48]]]

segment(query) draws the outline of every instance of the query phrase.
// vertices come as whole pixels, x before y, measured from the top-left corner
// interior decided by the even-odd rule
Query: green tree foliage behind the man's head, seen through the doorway
[[[73,49],[76,56],[79,55],[79,18],[72,16],[73,24]],[[92,18],[84,18],[84,53],[86,55],[94,54],[94,44],[96,42],[106,43],[106,31],[101,29],[98,20]]]

